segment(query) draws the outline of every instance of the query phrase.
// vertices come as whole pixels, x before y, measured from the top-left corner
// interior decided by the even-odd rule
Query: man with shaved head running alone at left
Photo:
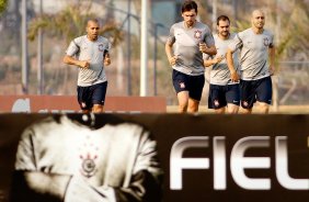
[[[79,68],[78,102],[84,113],[103,112],[107,78],[104,67],[111,64],[111,43],[99,36],[99,21],[89,20],[87,35],[71,41],[64,63]]]

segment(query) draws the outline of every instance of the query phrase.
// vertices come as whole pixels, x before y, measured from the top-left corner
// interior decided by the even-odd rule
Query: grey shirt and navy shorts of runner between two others
[[[210,71],[208,97],[209,109],[220,109],[226,106],[228,103],[236,105],[240,104],[239,83],[231,81],[230,70],[226,59],[228,45],[231,43],[233,37],[236,37],[234,33],[231,33],[227,40],[220,38],[217,34],[214,35],[217,55],[213,56],[213,58],[224,57],[224,59],[220,63],[213,65]],[[210,56],[204,54],[204,58],[209,59]],[[233,65],[236,71],[239,71],[238,52],[233,53]]]

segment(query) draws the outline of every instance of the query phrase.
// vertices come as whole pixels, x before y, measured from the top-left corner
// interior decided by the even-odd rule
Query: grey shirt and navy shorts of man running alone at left
[[[79,67],[78,101],[82,110],[91,110],[93,104],[105,102],[107,78],[104,70],[104,57],[110,52],[111,43],[99,36],[95,42],[87,35],[75,38],[68,49],[68,56],[76,56],[79,60],[89,60],[89,68]]]

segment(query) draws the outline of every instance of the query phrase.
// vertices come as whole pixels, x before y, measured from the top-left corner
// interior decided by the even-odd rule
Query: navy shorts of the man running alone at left
[[[91,110],[93,104],[104,105],[107,81],[90,87],[78,87],[78,102],[82,110]]]

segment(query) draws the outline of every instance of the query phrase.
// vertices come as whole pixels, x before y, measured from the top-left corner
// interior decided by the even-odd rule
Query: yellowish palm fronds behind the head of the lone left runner
[[[49,36],[65,37],[67,42],[83,35],[85,24],[89,19],[98,18],[91,13],[92,2],[78,2],[71,7],[67,7],[57,14],[43,14],[32,19],[28,27],[28,40],[34,41],[37,36],[38,29],[46,30]],[[106,21],[102,24],[100,34],[108,37],[113,46],[119,44],[123,40],[122,31],[114,21]]]

